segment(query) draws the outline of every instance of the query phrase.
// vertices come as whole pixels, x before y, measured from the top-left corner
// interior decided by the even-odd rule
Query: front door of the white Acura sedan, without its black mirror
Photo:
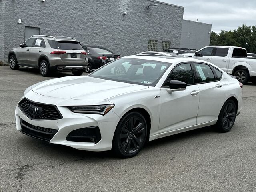
[[[187,83],[184,91],[168,93],[170,80]],[[160,92],[160,122],[158,133],[196,125],[199,88],[194,84],[190,63],[178,64],[170,73]]]

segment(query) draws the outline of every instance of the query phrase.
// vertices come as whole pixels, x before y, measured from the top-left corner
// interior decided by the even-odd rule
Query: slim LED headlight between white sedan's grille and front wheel
[[[96,106],[68,106],[73,113],[89,113],[106,115],[115,105],[96,105]]]

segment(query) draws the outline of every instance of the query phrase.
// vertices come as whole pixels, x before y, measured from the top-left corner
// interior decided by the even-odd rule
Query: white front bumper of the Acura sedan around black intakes
[[[120,118],[114,112],[110,111],[105,116],[102,116],[97,114],[73,113],[68,108],[63,106],[58,106],[58,110],[63,116],[62,119],[31,120],[17,106],[15,110],[16,129],[22,130],[21,120],[24,120],[33,126],[56,130],[56,134],[52,137],[50,143],[66,145],[79,150],[111,150],[114,132],[120,120]],[[94,142],[73,142],[66,140],[66,137],[71,131],[92,126],[98,126],[100,129],[101,140],[96,144],[94,144]]]

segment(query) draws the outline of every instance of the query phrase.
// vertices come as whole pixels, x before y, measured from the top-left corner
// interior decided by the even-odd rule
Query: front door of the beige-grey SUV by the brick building
[[[30,64],[29,53],[30,53],[30,49],[34,46],[35,40],[36,38],[30,38],[23,43],[24,47],[19,49],[19,52],[17,55],[19,64],[25,64],[25,65]]]

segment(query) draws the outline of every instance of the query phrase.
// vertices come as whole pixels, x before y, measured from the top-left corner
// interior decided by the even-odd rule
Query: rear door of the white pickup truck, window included
[[[224,47],[216,48],[216,50],[214,51],[214,54],[212,56],[211,62],[214,65],[221,68],[222,70],[224,70],[225,72],[227,72],[229,58],[230,58],[230,57],[228,57],[228,55],[229,55],[230,51],[231,51],[230,48],[224,48]]]

